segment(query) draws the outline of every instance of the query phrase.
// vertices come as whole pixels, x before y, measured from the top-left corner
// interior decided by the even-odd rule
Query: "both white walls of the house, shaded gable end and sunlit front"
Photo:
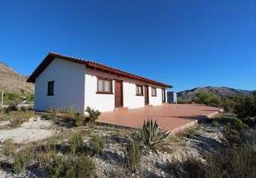
[[[46,111],[50,107],[69,108],[83,113],[87,106],[101,112],[114,111],[113,94],[99,94],[97,77],[123,81],[123,107],[141,108],[145,106],[145,96],[136,96],[136,85],[148,85],[149,105],[162,105],[162,88],[139,80],[128,79],[98,70],[91,70],[85,65],[53,59],[36,78],[35,109]],[[54,81],[54,96],[47,96],[47,82]],[[151,96],[151,87],[157,88],[157,96]],[[165,94],[165,98],[167,94]],[[165,99],[167,101],[167,99]]]

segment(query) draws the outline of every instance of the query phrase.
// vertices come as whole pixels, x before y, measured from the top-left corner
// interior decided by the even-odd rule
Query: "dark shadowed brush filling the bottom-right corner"
[[[204,156],[188,157],[183,162],[172,162],[167,166],[170,176],[202,178],[240,178],[256,176],[256,153],[247,145],[225,148]]]

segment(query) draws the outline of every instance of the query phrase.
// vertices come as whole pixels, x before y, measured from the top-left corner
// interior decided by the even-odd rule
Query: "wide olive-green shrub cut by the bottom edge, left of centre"
[[[88,156],[76,157],[68,156],[53,156],[50,162],[49,172],[50,177],[93,177],[95,174],[95,164]]]

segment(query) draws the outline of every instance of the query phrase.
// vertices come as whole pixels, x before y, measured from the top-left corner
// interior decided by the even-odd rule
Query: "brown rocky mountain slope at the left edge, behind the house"
[[[33,93],[34,85],[26,82],[27,77],[0,62],[0,90],[18,93]]]

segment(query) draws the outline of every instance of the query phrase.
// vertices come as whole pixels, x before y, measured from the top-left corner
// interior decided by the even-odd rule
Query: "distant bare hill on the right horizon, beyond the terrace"
[[[180,97],[181,99],[188,99],[191,100],[195,93],[199,92],[209,92],[216,96],[219,96],[220,98],[226,97],[226,96],[249,96],[252,95],[253,91],[250,90],[239,90],[234,88],[226,88],[226,87],[206,87],[206,88],[194,88],[191,90],[184,90],[179,93],[177,93],[177,97]]]

